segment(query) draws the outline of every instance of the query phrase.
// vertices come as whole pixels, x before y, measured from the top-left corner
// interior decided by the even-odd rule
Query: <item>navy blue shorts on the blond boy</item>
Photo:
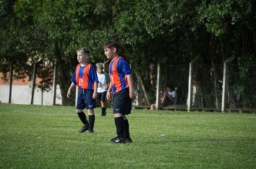
[[[76,109],[94,109],[96,108],[96,100],[93,99],[93,90],[78,89],[78,100]]]

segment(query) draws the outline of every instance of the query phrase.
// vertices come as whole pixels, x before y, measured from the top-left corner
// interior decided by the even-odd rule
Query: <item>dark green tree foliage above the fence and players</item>
[[[64,103],[76,67],[76,49],[86,46],[91,62],[104,62],[102,46],[109,39],[122,44],[122,55],[140,72],[144,84],[150,83],[150,64],[158,62],[168,69],[168,65],[188,64],[195,57],[217,67],[234,56],[239,77],[255,76],[252,0],[1,0],[0,4],[1,61],[15,61],[15,71],[22,70],[19,74],[29,74],[29,59],[38,62],[39,57],[49,65],[56,62]],[[244,73],[249,67],[254,71]],[[7,64],[1,65],[1,72],[8,72]],[[221,72],[216,71],[218,76]],[[180,85],[182,80],[178,79]],[[152,88],[147,85],[148,91]]]

